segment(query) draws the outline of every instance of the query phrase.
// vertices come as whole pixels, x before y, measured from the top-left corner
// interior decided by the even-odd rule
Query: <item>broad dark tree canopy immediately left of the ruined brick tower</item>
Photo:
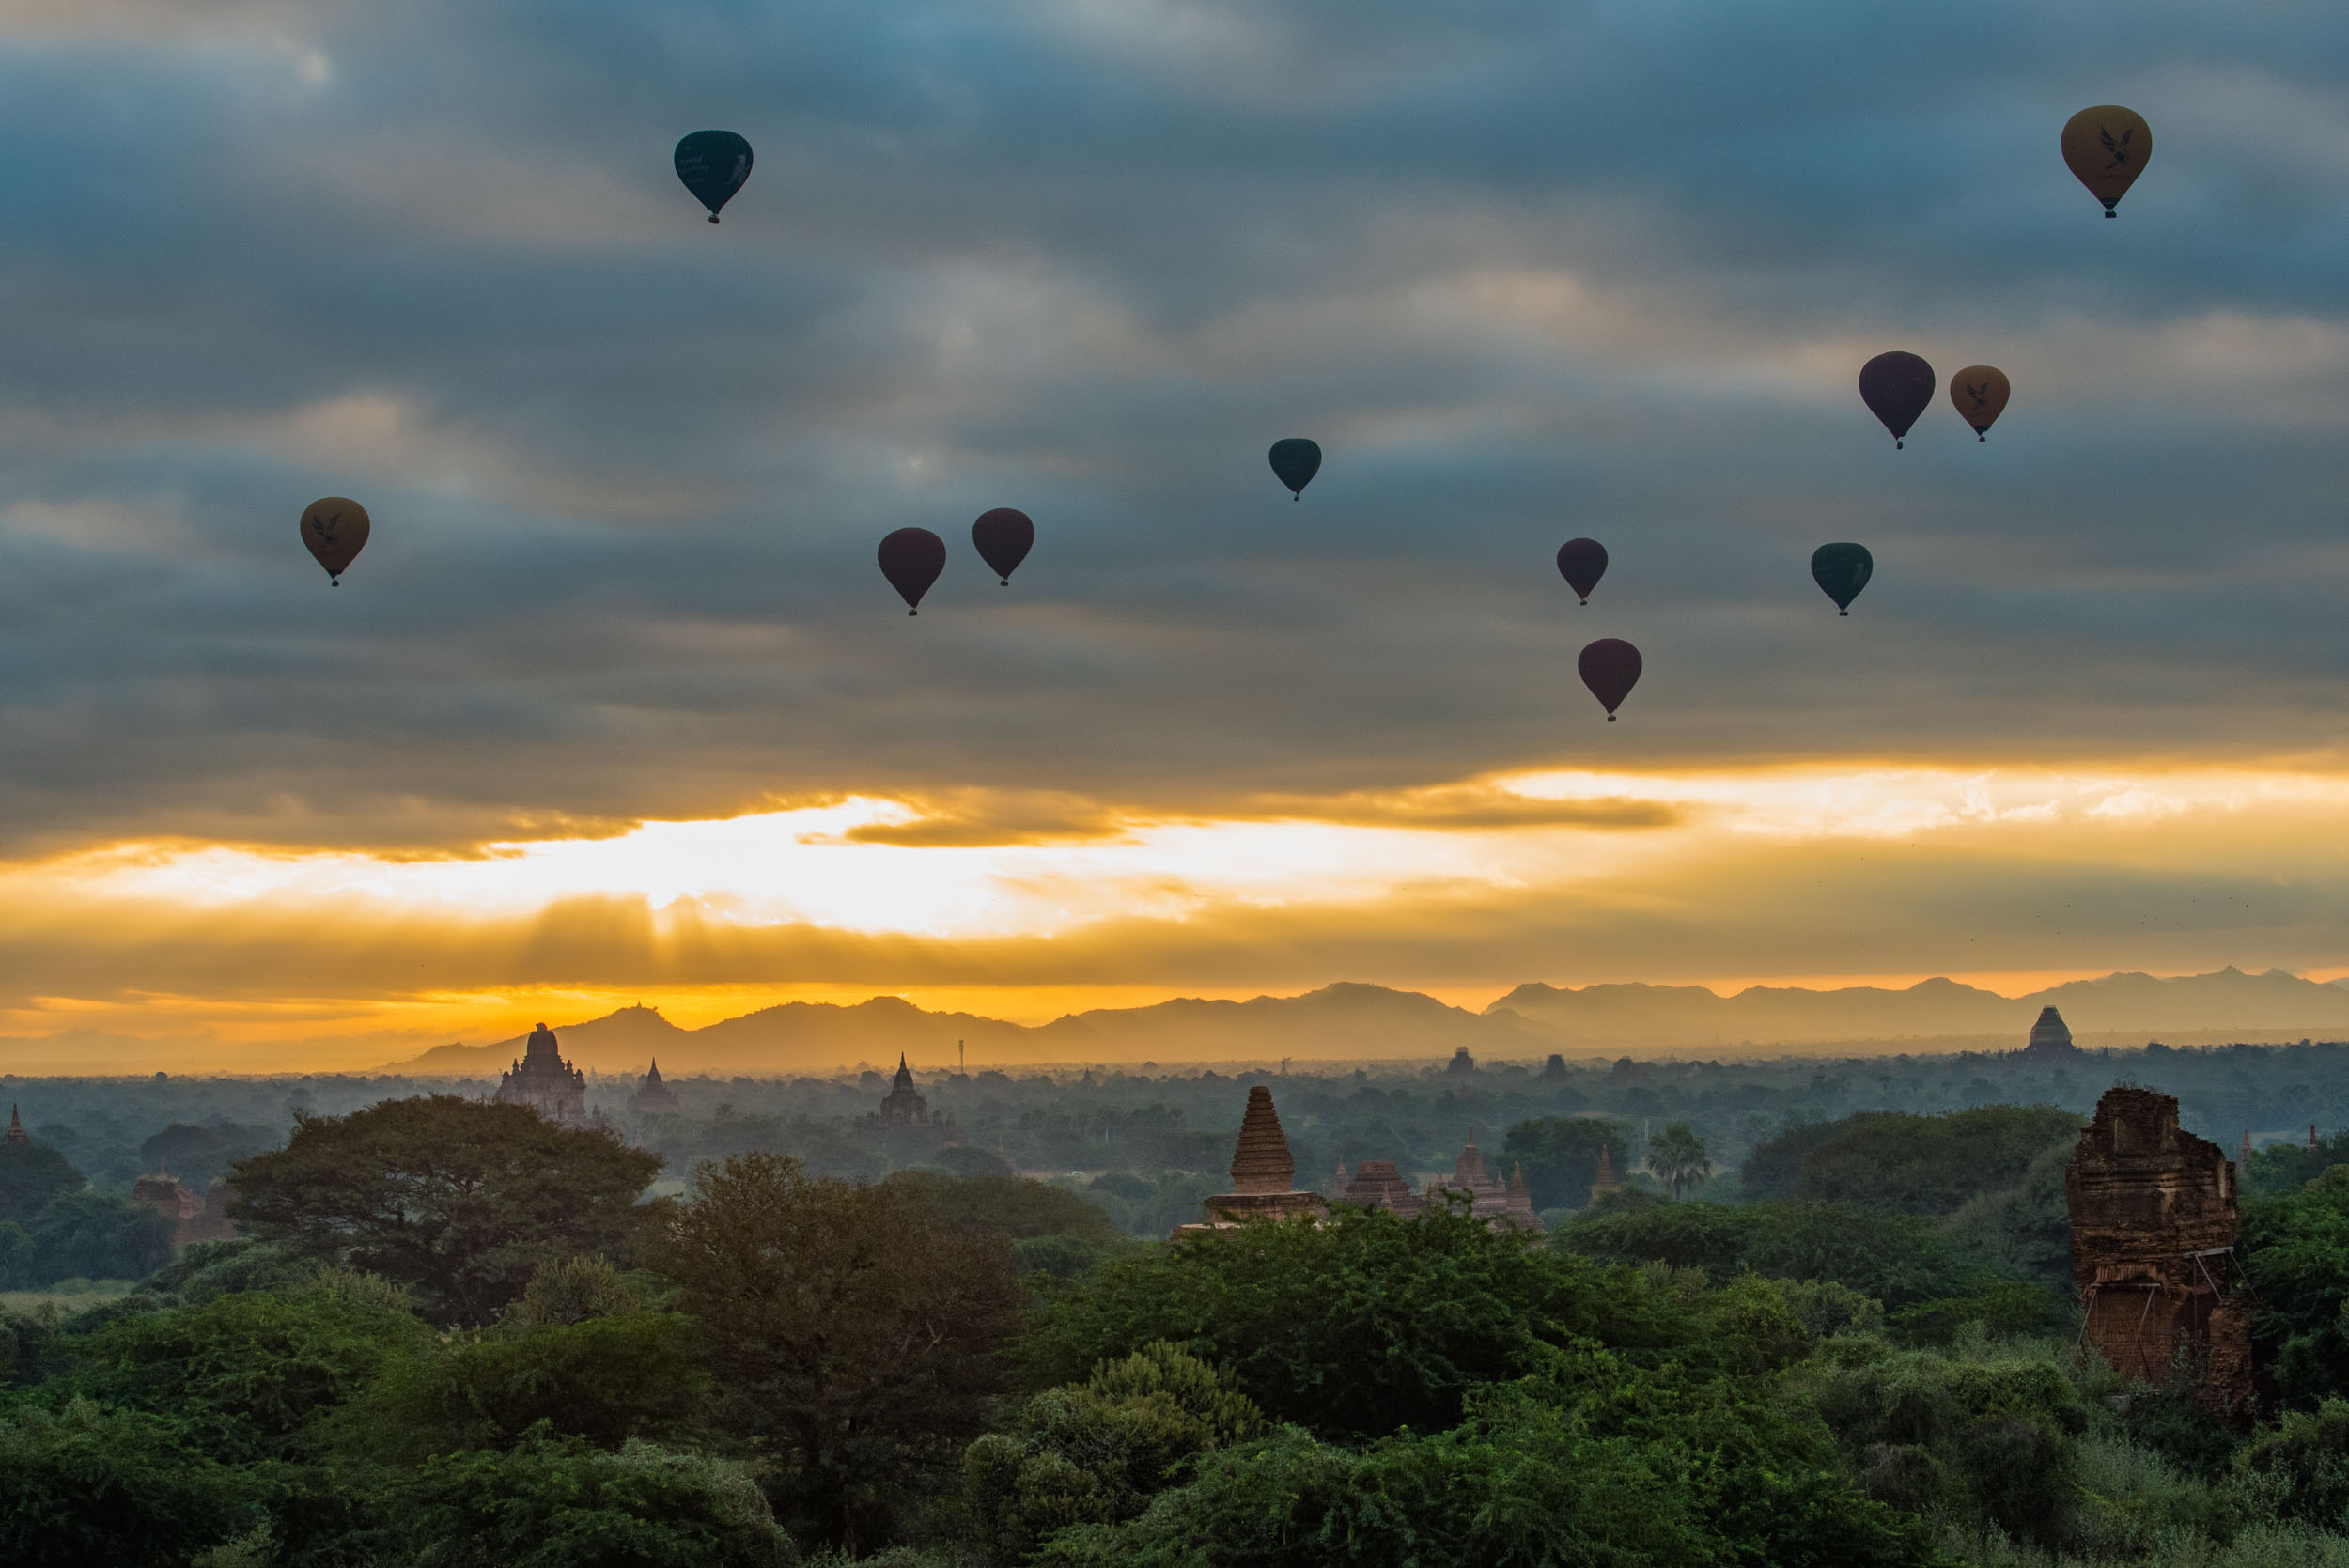
[[[2013,1188],[2081,1117],[2058,1106],[1978,1106],[1945,1115],[1867,1113],[1795,1127],[1745,1160],[1748,1197],[1806,1197],[1950,1214]]]

